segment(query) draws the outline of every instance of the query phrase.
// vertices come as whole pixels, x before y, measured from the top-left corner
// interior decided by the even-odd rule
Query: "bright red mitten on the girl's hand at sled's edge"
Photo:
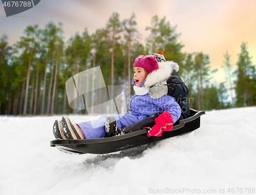
[[[170,131],[173,129],[173,118],[169,112],[164,111],[155,119],[156,125],[147,133],[147,137],[161,136],[163,131]]]

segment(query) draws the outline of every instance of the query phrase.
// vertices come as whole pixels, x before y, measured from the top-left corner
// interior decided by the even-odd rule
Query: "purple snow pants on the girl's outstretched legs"
[[[101,116],[99,119],[86,121],[84,123],[77,123],[77,125],[83,131],[84,136],[86,139],[94,139],[94,138],[102,138],[106,137],[104,131],[105,119],[110,115],[105,114]],[[147,118],[146,115],[140,115],[134,112],[126,112],[124,114],[115,114],[112,115],[116,119],[117,128],[123,129],[124,127],[130,126],[132,124],[136,124],[139,121]]]

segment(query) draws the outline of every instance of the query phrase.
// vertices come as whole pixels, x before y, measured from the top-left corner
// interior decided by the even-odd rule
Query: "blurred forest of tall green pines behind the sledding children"
[[[166,60],[179,64],[177,72],[189,88],[190,108],[218,110],[256,105],[255,65],[241,43],[236,65],[230,64],[228,51],[222,68],[226,82],[210,83],[218,69],[210,66],[210,56],[203,52],[184,53],[176,27],[165,17],[153,16],[145,31],[150,31],[143,45],[135,14],[120,21],[113,13],[105,27],[89,34],[85,27],[66,42],[62,23],[50,21],[44,29],[26,27],[13,45],[8,35],[0,40],[0,114],[51,115],[86,114],[70,108],[66,81],[79,72],[100,66],[106,85],[123,87],[126,97],[134,94],[131,81],[133,62],[138,55],[162,51]]]

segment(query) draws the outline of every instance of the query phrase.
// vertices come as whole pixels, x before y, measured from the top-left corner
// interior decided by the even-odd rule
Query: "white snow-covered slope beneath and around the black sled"
[[[0,194],[256,193],[256,107],[206,112],[194,132],[108,155],[50,147],[60,118],[0,117]]]

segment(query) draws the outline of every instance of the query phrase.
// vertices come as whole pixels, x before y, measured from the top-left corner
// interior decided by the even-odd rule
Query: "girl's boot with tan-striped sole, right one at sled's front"
[[[60,120],[60,130],[67,139],[84,139],[82,130],[78,125],[73,124],[68,117]]]

